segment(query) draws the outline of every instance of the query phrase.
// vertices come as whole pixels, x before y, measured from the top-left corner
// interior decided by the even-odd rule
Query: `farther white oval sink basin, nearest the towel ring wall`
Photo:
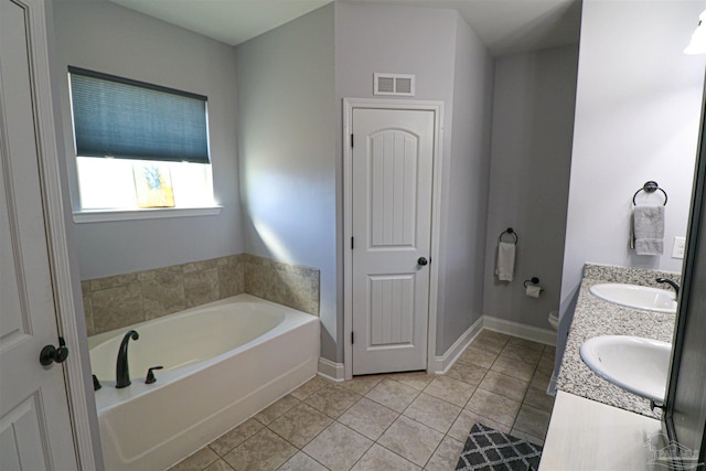
[[[638,285],[601,283],[593,285],[591,295],[629,308],[644,309],[655,312],[676,312],[676,295],[660,288]]]

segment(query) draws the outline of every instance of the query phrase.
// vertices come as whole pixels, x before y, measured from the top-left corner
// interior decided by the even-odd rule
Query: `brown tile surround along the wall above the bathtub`
[[[88,335],[240,293],[319,314],[319,270],[247,254],[81,283]]]

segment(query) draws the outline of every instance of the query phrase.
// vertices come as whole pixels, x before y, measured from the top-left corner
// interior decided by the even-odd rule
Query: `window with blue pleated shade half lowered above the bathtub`
[[[68,73],[82,211],[214,206],[205,96]]]

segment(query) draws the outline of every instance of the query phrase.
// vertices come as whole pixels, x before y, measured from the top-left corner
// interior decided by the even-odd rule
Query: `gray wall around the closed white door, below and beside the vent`
[[[492,60],[453,10],[336,3],[339,189],[343,188],[342,99],[372,98],[375,72],[414,74],[415,99],[445,104],[441,259],[435,261],[440,264],[437,309],[440,355],[481,313],[482,280],[478,266],[483,266]],[[458,129],[458,136],[453,129]],[[341,201],[339,210],[341,231]],[[339,247],[339,254],[342,251]],[[342,272],[341,261],[339,268]],[[343,325],[342,311],[339,324]]]

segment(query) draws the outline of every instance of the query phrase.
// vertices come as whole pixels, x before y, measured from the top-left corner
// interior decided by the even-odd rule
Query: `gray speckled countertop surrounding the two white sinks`
[[[581,343],[598,335],[635,335],[672,342],[675,314],[625,308],[588,291],[591,286],[607,281],[665,288],[654,281],[656,277],[680,282],[680,274],[586,264],[557,379],[560,390],[648,417],[660,417],[659,409],[650,410],[649,399],[628,393],[591,372],[579,353]]]

